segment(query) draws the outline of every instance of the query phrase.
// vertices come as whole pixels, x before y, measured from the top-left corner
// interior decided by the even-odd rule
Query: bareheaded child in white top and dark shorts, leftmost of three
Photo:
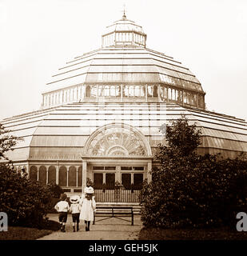
[[[54,208],[58,211],[58,220],[61,225],[62,232],[66,232],[68,210],[70,210],[70,206],[69,203],[66,202],[66,198],[66,194],[61,194],[60,201],[54,206]]]

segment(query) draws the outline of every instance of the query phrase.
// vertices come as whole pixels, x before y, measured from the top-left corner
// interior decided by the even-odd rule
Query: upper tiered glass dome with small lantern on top
[[[68,102],[177,102],[205,109],[196,76],[145,46],[142,27],[126,18],[106,27],[102,48],[66,62],[52,76],[42,107]]]

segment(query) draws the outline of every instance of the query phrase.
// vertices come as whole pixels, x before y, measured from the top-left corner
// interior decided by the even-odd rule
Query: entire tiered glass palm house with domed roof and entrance
[[[141,26],[126,18],[106,27],[102,47],[66,62],[42,94],[40,110],[2,121],[22,136],[7,157],[17,171],[78,194],[86,178],[98,202],[137,202],[157,163],[161,125],[184,114],[201,128],[200,154],[247,152],[246,122],[205,110],[196,76],[146,47]],[[116,184],[122,194],[114,193]]]

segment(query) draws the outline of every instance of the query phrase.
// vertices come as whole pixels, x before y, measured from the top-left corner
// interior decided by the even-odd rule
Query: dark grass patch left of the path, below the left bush
[[[7,232],[0,232],[1,240],[35,240],[42,238],[46,234],[50,234],[59,229],[59,223],[54,221],[46,222],[41,229],[23,227],[23,226],[9,226]]]

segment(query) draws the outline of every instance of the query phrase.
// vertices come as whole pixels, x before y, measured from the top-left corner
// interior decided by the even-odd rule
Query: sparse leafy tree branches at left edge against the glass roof
[[[14,146],[18,141],[23,140],[23,138],[18,138],[14,135],[10,135],[10,130],[6,130],[2,123],[0,123],[0,160],[6,159],[5,153],[8,150],[14,150]]]

